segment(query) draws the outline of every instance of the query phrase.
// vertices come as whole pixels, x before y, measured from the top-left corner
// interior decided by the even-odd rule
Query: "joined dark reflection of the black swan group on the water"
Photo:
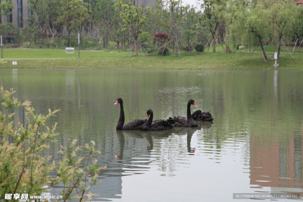
[[[131,138],[136,139],[147,139],[147,151],[151,151],[154,148],[153,140],[155,139],[162,139],[162,138],[168,138],[172,134],[177,135],[186,135],[187,136],[187,151],[188,153],[195,153],[196,148],[191,148],[191,137],[192,135],[197,131],[201,130],[201,128],[209,129],[211,128],[213,121],[197,121],[198,127],[174,127],[173,130],[168,131],[121,131],[117,130],[117,136],[120,144],[120,155],[116,155],[116,159],[123,159],[123,150],[125,145],[125,137],[124,135],[127,135]],[[194,154],[189,154],[194,155]]]

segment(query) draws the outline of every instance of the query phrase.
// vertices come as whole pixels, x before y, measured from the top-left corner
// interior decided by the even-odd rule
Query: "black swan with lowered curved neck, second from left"
[[[142,131],[164,131],[170,130],[173,128],[171,123],[174,123],[172,120],[164,121],[164,120],[155,120],[153,121],[154,113],[151,109],[146,112],[148,120],[145,124],[142,125]]]

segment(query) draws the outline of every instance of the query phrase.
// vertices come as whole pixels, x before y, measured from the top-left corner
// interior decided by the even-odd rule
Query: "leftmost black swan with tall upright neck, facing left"
[[[123,100],[121,98],[118,98],[115,104],[120,104],[120,117],[117,124],[116,129],[117,130],[140,130],[141,126],[145,124],[147,121],[142,119],[135,119],[132,121],[129,121],[128,123],[124,124],[124,109],[123,109]]]

